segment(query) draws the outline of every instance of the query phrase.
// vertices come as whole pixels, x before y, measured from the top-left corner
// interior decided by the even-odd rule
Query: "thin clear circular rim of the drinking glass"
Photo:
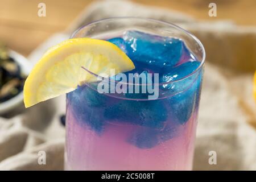
[[[108,20],[117,20],[117,19],[141,19],[141,20],[146,20],[146,21],[149,21],[149,22],[155,22],[155,23],[161,23],[161,24],[166,24],[167,26],[170,26],[170,27],[173,27],[173,28],[176,28],[177,30],[181,31],[181,32],[184,32],[185,34],[189,35],[193,40],[195,40],[195,42],[197,44],[199,44],[200,48],[201,48],[201,52],[202,52],[202,59],[200,61],[200,65],[199,67],[197,67],[192,73],[189,73],[188,75],[185,75],[184,77],[181,77],[177,80],[171,80],[171,81],[167,81],[167,82],[160,82],[158,83],[158,85],[166,85],[166,84],[171,84],[171,83],[174,83],[174,82],[178,82],[178,81],[182,81],[182,80],[185,80],[186,78],[188,77],[191,77],[193,75],[195,75],[197,72],[200,71],[200,69],[203,67],[204,63],[205,63],[205,48],[203,46],[203,44],[201,43],[201,41],[195,36],[193,35],[191,32],[185,30],[184,28],[181,28],[179,26],[177,26],[176,24],[174,23],[169,23],[169,22],[165,22],[163,20],[157,20],[157,19],[154,19],[154,18],[143,18],[143,17],[140,17],[140,16],[114,16],[114,17],[111,17],[111,18],[103,18],[103,19],[99,19],[99,20],[95,20],[93,22],[90,22],[90,23],[87,23],[85,24],[84,26],[81,26],[80,28],[77,28],[76,31],[73,32],[73,34],[71,35],[71,39],[74,38],[74,36],[80,31],[82,30],[83,28],[85,27],[89,27],[93,24],[96,24],[96,23],[101,23],[101,22],[105,22],[105,21],[108,21]],[[82,69],[85,69],[84,67],[81,67]],[[93,73],[93,72],[90,72],[88,71],[88,69],[85,69],[85,71],[89,72],[90,74],[94,75],[94,76],[98,76],[98,77],[101,77],[100,75],[96,74],[96,73]],[[111,78],[109,78],[109,80],[112,80]],[[114,80],[113,80],[114,81]],[[116,82],[116,81],[114,81]],[[131,84],[131,83],[127,83],[127,82],[120,82],[122,84]],[[148,85],[148,84],[131,84],[131,85]]]

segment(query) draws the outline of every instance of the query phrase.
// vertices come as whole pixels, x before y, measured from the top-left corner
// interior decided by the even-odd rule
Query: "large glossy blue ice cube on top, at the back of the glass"
[[[176,65],[183,53],[183,42],[175,38],[127,31],[123,39],[131,60],[160,68]]]

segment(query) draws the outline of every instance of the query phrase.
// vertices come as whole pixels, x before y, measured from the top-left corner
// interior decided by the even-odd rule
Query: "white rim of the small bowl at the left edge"
[[[28,76],[32,69],[32,65],[28,62],[28,60],[15,51],[10,50],[9,55],[20,66],[21,72],[24,75]],[[13,98],[10,98],[5,102],[0,103],[0,114],[7,113],[8,111],[18,106],[21,102],[23,102],[23,91],[20,92],[18,95],[14,96]]]

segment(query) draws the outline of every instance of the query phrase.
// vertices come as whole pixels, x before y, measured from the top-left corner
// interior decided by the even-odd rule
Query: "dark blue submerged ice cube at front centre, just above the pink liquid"
[[[161,129],[167,119],[166,107],[161,101],[123,100],[105,109],[105,118],[117,122]]]

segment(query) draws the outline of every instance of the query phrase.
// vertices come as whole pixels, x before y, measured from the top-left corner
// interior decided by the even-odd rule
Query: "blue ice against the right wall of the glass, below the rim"
[[[188,61],[175,68],[164,70],[166,73],[160,78],[160,82],[175,81],[183,78],[195,71],[199,65],[199,61]],[[165,92],[170,92],[170,95],[175,94],[168,98],[171,107],[170,115],[174,121],[184,124],[191,117],[196,101],[199,100],[200,83],[201,71],[183,80],[164,84],[160,87]]]

